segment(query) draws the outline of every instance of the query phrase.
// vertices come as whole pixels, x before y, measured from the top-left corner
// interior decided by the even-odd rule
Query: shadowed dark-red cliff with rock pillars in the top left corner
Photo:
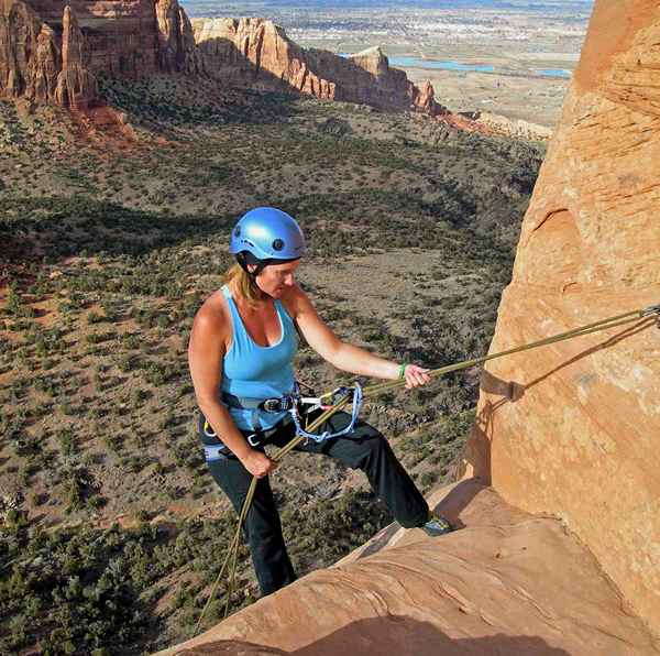
[[[97,100],[96,75],[202,73],[176,0],[2,0],[0,92],[72,109]]]

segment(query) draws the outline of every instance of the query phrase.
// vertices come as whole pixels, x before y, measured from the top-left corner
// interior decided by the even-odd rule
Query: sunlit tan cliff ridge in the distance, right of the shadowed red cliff
[[[194,19],[193,30],[206,73],[229,85],[293,88],[320,99],[431,116],[447,112],[430,84],[420,90],[403,70],[391,68],[377,47],[351,57],[305,50],[263,19]]]

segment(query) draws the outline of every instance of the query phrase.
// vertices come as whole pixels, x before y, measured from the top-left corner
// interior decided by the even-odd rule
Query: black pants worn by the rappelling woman
[[[326,422],[321,433],[337,433],[348,426],[350,420],[346,413],[337,413]],[[268,444],[283,447],[294,438],[295,433],[293,422],[286,423],[271,436]],[[205,441],[208,444],[209,439],[206,438]],[[402,526],[411,528],[421,526],[427,521],[429,506],[426,500],[393,453],[387,440],[373,426],[358,422],[353,433],[346,436],[320,444],[309,440],[300,444],[296,450],[324,453],[351,469],[363,470],[373,491],[385,502]],[[240,513],[252,474],[234,456],[211,461],[208,466],[216,482],[229,496],[237,513]],[[244,535],[250,545],[262,594],[275,592],[296,580],[296,572],[284,545],[279,514],[268,477],[258,479],[245,518]]]

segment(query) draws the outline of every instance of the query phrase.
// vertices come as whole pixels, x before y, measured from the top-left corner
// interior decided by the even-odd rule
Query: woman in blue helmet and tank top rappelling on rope
[[[264,444],[282,447],[296,435],[294,422],[277,400],[295,390],[297,332],[343,371],[405,378],[408,389],[430,378],[426,369],[399,365],[342,342],[319,318],[295,281],[305,239],[289,215],[268,207],[249,211],[232,231],[231,252],[238,264],[226,275],[227,284],[197,313],[188,357],[204,415],[200,436],[208,467],[237,512],[252,477],[258,479],[244,529],[261,591],[270,594],[296,578],[268,482],[277,463],[265,453]],[[273,400],[272,412],[264,409],[265,400]],[[350,420],[346,413],[337,413],[321,431],[339,433]],[[430,516],[387,440],[369,424],[358,422],[349,435],[322,442],[307,440],[298,450],[324,453],[362,469],[402,526],[419,526],[429,535],[451,529],[441,517]]]

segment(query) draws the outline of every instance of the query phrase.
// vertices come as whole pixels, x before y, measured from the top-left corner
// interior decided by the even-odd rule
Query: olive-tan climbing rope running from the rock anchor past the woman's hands
[[[648,322],[645,324],[645,320],[650,319],[650,318],[654,318],[656,324],[658,325],[658,327],[660,327],[660,304],[651,305],[651,306],[642,308],[642,309],[631,310],[631,311],[624,313],[624,314],[620,314],[620,315],[617,315],[614,317],[608,317],[607,319],[601,319],[600,321],[594,321],[593,324],[580,326],[579,328],[573,328],[572,330],[566,330],[565,332],[560,332],[558,335],[553,335],[551,337],[547,337],[544,339],[539,339],[537,341],[532,341],[527,345],[507,349],[505,351],[499,351],[497,353],[482,356],[481,358],[474,358],[472,360],[464,360],[463,362],[457,362],[454,364],[441,367],[440,369],[435,369],[432,371],[429,371],[429,375],[431,378],[439,378],[446,373],[450,373],[453,371],[460,371],[462,369],[470,369],[470,368],[474,367],[475,364],[481,364],[482,362],[486,362],[488,360],[494,360],[495,358],[503,358],[505,356],[510,356],[513,353],[519,353],[519,352],[528,351],[530,349],[536,349],[536,348],[539,348],[542,346],[557,343],[560,341],[565,341],[568,339],[573,339],[575,337],[582,337],[584,335],[590,335],[592,332],[597,332],[600,330],[607,330],[609,328],[625,326],[627,324],[632,324],[634,321],[639,321],[640,319],[642,320],[642,324],[638,324],[636,326],[636,328],[648,327],[651,324],[648,324]],[[359,393],[356,393],[354,391],[352,395],[344,394],[344,395],[338,397],[338,400],[331,406],[323,409],[322,414],[311,422],[311,425],[307,428],[307,430],[309,433],[311,433],[311,431],[320,428],[330,417],[332,417],[332,415],[334,415],[339,411],[343,409],[350,403],[353,403],[353,401],[362,402],[362,398],[365,396],[371,396],[371,395],[375,395],[375,394],[381,394],[383,392],[388,392],[391,390],[402,387],[405,384],[406,384],[406,381],[404,379],[404,380],[396,380],[396,381],[386,381],[383,383],[375,383],[373,385],[365,387],[364,390],[360,389],[359,385],[355,385],[354,390],[360,389]],[[330,393],[330,394],[334,394],[334,393]],[[324,398],[326,396],[328,396],[328,395],[324,395],[321,398]],[[333,396],[332,396],[332,398],[334,400]],[[353,408],[353,416],[354,416],[354,419],[356,419],[354,408]],[[354,422],[354,419],[353,419],[353,422]],[[296,429],[298,429],[297,424],[296,424]],[[316,437],[318,438],[318,436],[316,436]],[[279,462],[289,451],[292,451],[295,447],[297,447],[305,439],[307,439],[307,437],[305,435],[298,434],[285,447],[282,447],[273,456],[272,460],[274,460],[275,462]],[[241,509],[241,513],[239,514],[237,531],[234,533],[232,542],[229,545],[229,550],[228,550],[227,557],[224,559],[224,562],[222,564],[222,567],[220,568],[218,578],[216,579],[216,582],[213,583],[213,586],[211,588],[211,592],[209,594],[207,603],[204,606],[201,614],[199,615],[199,620],[197,621],[193,636],[197,635],[197,633],[199,632],[201,622],[204,621],[206,612],[216,595],[216,591],[218,589],[220,580],[222,579],[224,571],[228,569],[228,567],[229,567],[230,575],[229,575],[229,583],[228,583],[228,589],[227,589],[227,600],[224,603],[224,615],[223,616],[227,617],[227,615],[229,614],[229,603],[231,601],[231,595],[233,593],[233,587],[234,587],[237,560],[238,560],[239,546],[240,546],[240,539],[241,539],[241,528],[242,528],[243,522],[245,521],[245,517],[248,515],[248,511],[250,510],[250,505],[252,504],[252,499],[253,499],[254,492],[256,490],[257,480],[258,479],[256,477],[252,478],[250,489],[248,490],[245,501],[243,502],[243,507]]]

